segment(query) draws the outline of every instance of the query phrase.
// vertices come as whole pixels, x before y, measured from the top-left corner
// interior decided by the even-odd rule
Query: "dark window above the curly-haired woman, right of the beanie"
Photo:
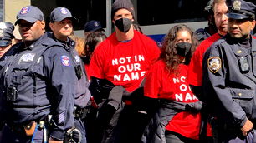
[[[141,26],[205,21],[207,0],[137,0],[137,20]]]

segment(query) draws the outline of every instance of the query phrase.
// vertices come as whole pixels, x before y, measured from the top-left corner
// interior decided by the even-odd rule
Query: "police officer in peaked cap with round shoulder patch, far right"
[[[219,142],[255,142],[256,6],[229,0],[228,34],[213,43],[203,59],[203,96],[215,120]]]

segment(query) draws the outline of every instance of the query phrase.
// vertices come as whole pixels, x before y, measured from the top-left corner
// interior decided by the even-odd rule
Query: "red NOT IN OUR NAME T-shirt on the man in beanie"
[[[159,54],[156,42],[140,32],[134,31],[134,37],[128,42],[117,41],[114,32],[95,49],[90,76],[107,79],[131,92],[140,86]]]

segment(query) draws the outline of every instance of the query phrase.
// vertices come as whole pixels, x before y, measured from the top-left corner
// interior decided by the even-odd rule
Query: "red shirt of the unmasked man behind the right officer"
[[[208,37],[197,47],[196,51],[193,53],[191,62],[189,64],[187,72],[187,82],[193,86],[202,86],[202,59],[203,54],[206,52],[207,48],[210,47],[213,42],[216,42],[219,38],[218,33],[213,34]]]

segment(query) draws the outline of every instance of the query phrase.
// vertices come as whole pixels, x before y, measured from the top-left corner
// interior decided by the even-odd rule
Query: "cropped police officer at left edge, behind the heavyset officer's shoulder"
[[[13,30],[13,23],[0,22],[0,58],[12,47]]]

